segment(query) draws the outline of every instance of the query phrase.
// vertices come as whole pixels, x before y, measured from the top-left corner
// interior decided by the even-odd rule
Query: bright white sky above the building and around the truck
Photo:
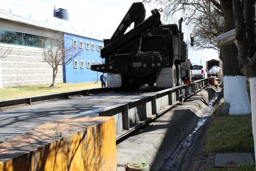
[[[69,12],[69,22],[75,30],[83,29],[84,32],[110,38],[117,26],[121,22],[127,10],[134,2],[141,0],[8,0],[1,2],[1,10],[9,11],[13,14],[29,17],[45,22],[53,17],[54,5],[56,8],[65,8]],[[157,4],[145,4],[146,17],[151,15],[152,9],[163,8]],[[164,18],[161,15],[162,23],[177,23],[182,13],[173,18]],[[191,30],[183,24],[185,40],[189,37]],[[188,36],[187,36],[188,35]],[[197,47],[189,47],[188,58],[192,63],[205,66],[205,62],[210,59],[218,59],[216,50],[197,50]]]

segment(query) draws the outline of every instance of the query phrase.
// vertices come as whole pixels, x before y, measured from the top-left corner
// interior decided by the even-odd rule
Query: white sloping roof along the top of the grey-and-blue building
[[[100,36],[95,36],[92,34],[82,32],[82,29],[81,29],[81,31],[74,30],[74,29],[72,29],[72,25],[70,24],[70,22],[63,20],[63,19],[56,18],[56,17],[50,18],[51,23],[59,24],[59,26],[49,24],[47,22],[45,22],[45,23],[39,22],[32,18],[18,16],[18,15],[9,13],[5,10],[1,10],[1,9],[0,9],[0,18],[6,19],[6,20],[11,20],[13,22],[32,25],[35,27],[43,28],[43,29],[49,29],[49,30],[63,32],[63,33],[74,34],[74,35],[78,35],[81,37],[87,37],[87,38],[92,38],[92,39],[101,40],[101,41],[103,40],[103,38]]]

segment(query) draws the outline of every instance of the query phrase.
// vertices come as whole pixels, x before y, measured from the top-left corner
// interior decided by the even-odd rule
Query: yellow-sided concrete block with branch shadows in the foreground
[[[112,117],[60,119],[0,144],[0,171],[116,170]]]

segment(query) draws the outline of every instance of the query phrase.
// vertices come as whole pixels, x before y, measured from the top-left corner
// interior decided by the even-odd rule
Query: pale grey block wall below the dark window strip
[[[10,53],[0,61],[0,86],[1,83],[3,87],[8,87],[52,82],[52,68],[44,61],[41,49],[3,44],[2,46],[2,51],[8,47]],[[62,66],[58,67],[56,82],[63,82]]]

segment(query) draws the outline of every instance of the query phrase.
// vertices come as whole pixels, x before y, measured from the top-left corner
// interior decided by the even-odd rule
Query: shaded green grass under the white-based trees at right
[[[222,115],[221,106],[217,109],[211,120],[207,132],[205,154],[209,153],[253,153],[253,135],[251,115]],[[219,170],[253,170],[255,165],[239,166],[237,168],[207,169],[207,171]]]

